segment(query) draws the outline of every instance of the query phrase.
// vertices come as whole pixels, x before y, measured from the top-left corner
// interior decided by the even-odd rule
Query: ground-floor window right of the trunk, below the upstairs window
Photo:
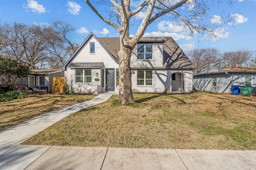
[[[153,85],[153,71],[152,70],[138,70],[137,71],[137,86],[152,86]]]

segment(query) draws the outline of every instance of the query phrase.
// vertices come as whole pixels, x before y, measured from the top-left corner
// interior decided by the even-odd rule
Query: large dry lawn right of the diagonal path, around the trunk
[[[256,98],[134,94],[76,112],[22,144],[80,147],[256,149]],[[135,105],[136,104],[136,105]]]

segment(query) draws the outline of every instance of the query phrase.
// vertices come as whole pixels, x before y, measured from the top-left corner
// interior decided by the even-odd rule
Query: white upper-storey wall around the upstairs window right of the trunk
[[[153,43],[153,59],[137,60],[137,45],[132,51],[131,67],[162,67],[163,66],[163,44]]]

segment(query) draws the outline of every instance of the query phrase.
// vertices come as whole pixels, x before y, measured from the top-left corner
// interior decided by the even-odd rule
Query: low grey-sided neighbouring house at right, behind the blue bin
[[[256,93],[256,67],[214,67],[194,75],[196,90],[229,93],[230,85],[253,86]]]

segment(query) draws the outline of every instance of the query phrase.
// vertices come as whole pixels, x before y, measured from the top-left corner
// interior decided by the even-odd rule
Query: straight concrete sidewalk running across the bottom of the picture
[[[255,170],[256,150],[18,145],[0,161],[1,170]]]

